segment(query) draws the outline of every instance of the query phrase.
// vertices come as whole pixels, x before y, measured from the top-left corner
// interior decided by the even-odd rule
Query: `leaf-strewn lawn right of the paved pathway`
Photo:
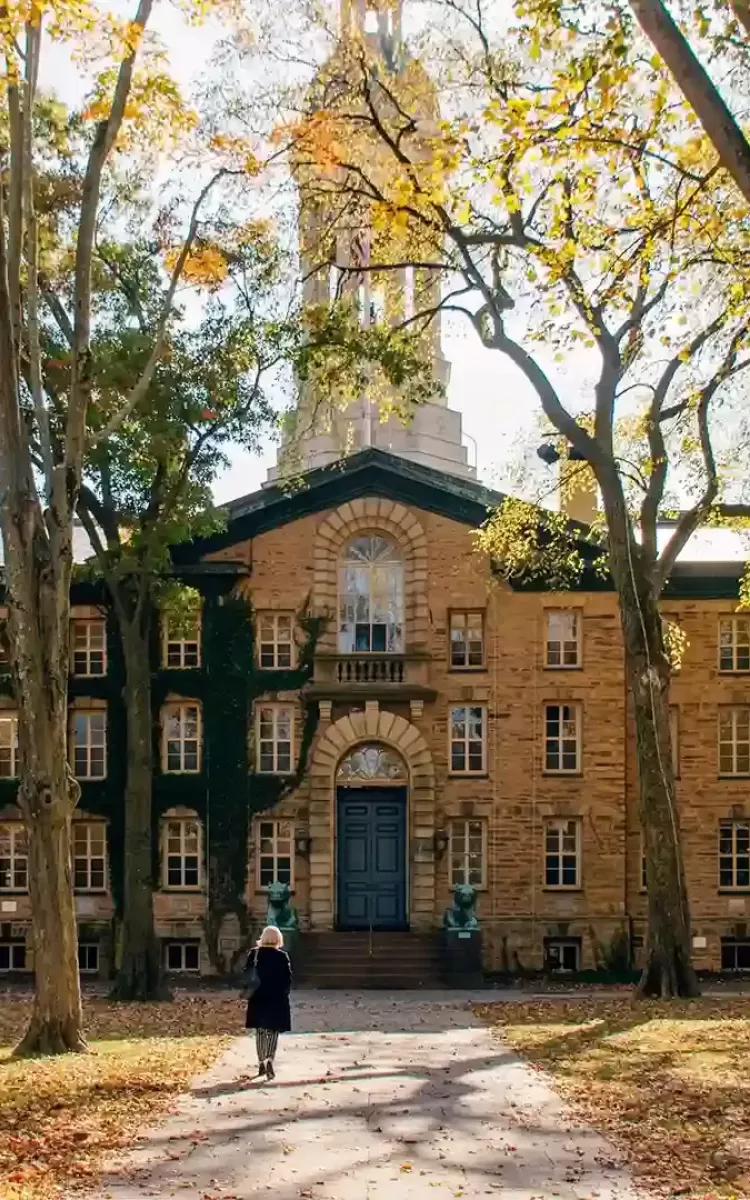
[[[480,1015],[544,1068],[634,1171],[680,1196],[750,1196],[750,1000],[544,1000]]]

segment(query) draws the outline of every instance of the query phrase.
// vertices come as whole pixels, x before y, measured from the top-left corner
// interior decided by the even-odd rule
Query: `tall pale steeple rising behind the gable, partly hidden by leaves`
[[[421,115],[432,127],[437,110],[434,86],[421,66],[404,54],[401,36],[402,0],[341,0],[338,47],[320,71],[311,95],[316,95],[318,85],[325,92],[326,80],[340,84],[350,78],[347,48],[352,40],[361,40],[368,52],[385,64],[394,86],[398,86],[400,79],[408,84],[412,108],[415,107],[414,96],[419,96]],[[415,115],[419,118],[420,113]],[[419,155],[418,140],[413,149]],[[372,155],[372,145],[367,154]],[[388,162],[384,154],[383,163],[372,163],[373,173],[390,169]],[[388,259],[378,257],[383,246],[378,246],[378,234],[371,228],[367,212],[353,217],[349,211],[342,218],[340,214],[347,206],[341,204],[330,176],[328,180],[318,178],[310,168],[304,178],[300,175],[299,190],[304,304],[324,305],[334,296],[348,294],[359,308],[364,326],[382,319],[398,324],[414,312],[434,311],[422,335],[424,346],[434,379],[446,385],[449,365],[440,350],[440,319],[436,311],[440,295],[438,275],[425,269],[392,266],[378,275],[378,260],[386,264]],[[330,262],[330,247],[334,247],[335,264]],[[365,269],[355,275],[352,271],[355,266]],[[280,449],[277,467],[269,472],[269,482],[328,466],[367,446],[464,479],[475,475],[462,444],[461,414],[448,408],[439,388],[436,388],[433,402],[416,406],[404,422],[396,415],[383,421],[378,402],[367,395],[346,410],[331,410],[326,397],[306,386],[300,392],[295,424],[296,428]]]

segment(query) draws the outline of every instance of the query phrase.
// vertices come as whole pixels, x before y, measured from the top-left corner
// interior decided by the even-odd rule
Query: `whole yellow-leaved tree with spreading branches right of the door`
[[[293,125],[298,170],[322,206],[356,211],[373,229],[368,270],[388,278],[409,263],[432,280],[408,324],[463,313],[595,476],[637,739],[649,896],[641,989],[694,995],[659,598],[721,497],[721,418],[750,365],[744,204],[632,23],[607,10],[601,28],[558,23],[542,37],[535,6],[511,30],[492,24],[492,4],[436,8],[450,116],[431,112],[427,76],[408,55],[377,35],[349,36]],[[577,403],[556,380],[554,360],[571,352],[592,378]],[[689,503],[661,547],[670,491]],[[509,512],[491,520],[484,545],[506,569],[510,538],[521,569],[556,530],[547,522],[529,539],[528,520],[510,517],[510,533]]]

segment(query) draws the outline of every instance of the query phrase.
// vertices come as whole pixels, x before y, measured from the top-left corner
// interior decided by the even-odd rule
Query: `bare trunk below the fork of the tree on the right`
[[[664,649],[659,598],[630,530],[618,536],[614,532],[618,526],[612,520],[608,528],[625,674],[634,702],[638,814],[648,889],[647,954],[638,990],[646,996],[697,996],[672,763],[670,664]]]

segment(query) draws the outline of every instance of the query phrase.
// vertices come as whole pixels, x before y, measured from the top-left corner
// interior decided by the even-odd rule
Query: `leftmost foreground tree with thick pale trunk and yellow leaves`
[[[131,20],[71,5],[22,5],[2,23],[6,88],[0,110],[4,169],[0,187],[0,528],[13,686],[19,708],[19,805],[29,834],[29,886],[36,994],[18,1052],[82,1050],[80,989],[71,887],[71,817],[79,788],[67,764],[67,673],[72,533],[96,409],[92,374],[92,257],[102,187],[115,155],[136,134],[162,146],[192,128],[158,56],[143,48],[152,0],[139,0]],[[72,269],[64,290],[44,274],[41,220],[50,149],[36,122],[38,71],[46,37],[84,48],[102,41],[108,58],[84,120],[83,169],[72,180],[67,234]],[[22,49],[23,46],[23,49]],[[137,59],[140,67],[137,70]],[[101,59],[100,59],[101,61]],[[167,131],[169,126],[169,131]],[[205,199],[206,191],[200,200]],[[113,432],[144,397],[160,361],[174,294],[194,236],[176,256],[162,311],[139,378]],[[58,406],[42,358],[43,312],[67,330],[70,379]]]

